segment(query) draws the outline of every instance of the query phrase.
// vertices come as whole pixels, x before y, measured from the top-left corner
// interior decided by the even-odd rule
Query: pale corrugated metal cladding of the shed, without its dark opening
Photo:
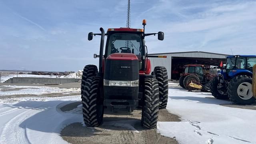
[[[175,52],[166,54],[149,54],[158,56],[167,56],[167,58],[149,58],[151,62],[151,68],[153,71],[155,66],[164,66],[168,72],[168,79],[171,79],[172,75],[172,57],[189,57],[189,58],[226,58],[225,54],[214,54],[208,52]]]

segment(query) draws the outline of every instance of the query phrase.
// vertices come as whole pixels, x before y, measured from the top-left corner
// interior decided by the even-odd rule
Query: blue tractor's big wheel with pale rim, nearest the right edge
[[[234,104],[253,104],[252,78],[250,76],[236,76],[228,84],[228,95]]]

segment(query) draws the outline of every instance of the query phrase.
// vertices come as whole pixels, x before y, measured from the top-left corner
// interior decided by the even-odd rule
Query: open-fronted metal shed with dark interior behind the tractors
[[[164,66],[168,72],[168,79],[177,79],[178,74],[174,75],[172,73],[178,66],[183,66],[185,64],[207,64],[212,66],[219,66],[221,61],[226,60],[227,54],[217,54],[212,52],[169,52],[169,53],[158,53],[158,54],[148,54],[148,55],[158,55],[167,56],[167,58],[150,58],[152,71],[155,66]]]

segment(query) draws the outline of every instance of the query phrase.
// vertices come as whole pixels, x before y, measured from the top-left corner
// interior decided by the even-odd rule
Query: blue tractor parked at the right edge
[[[253,104],[252,71],[256,55],[228,56],[226,66],[210,82],[210,92],[217,99],[234,104]]]

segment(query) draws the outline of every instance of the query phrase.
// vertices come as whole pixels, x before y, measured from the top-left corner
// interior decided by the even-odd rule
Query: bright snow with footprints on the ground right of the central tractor
[[[188,92],[170,83],[167,109],[182,122],[158,122],[158,132],[181,144],[256,144],[256,111],[219,104],[210,93]],[[206,98],[208,97],[208,98]]]

